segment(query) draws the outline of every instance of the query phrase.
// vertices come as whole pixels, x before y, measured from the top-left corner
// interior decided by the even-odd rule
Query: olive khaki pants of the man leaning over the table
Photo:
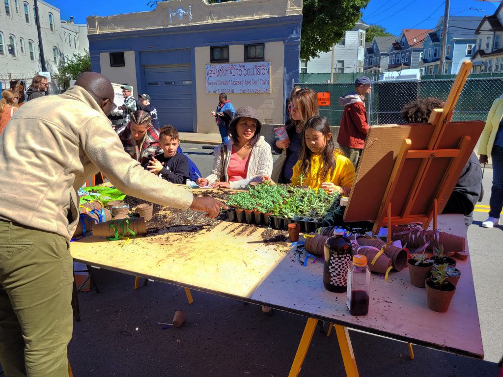
[[[67,377],[73,265],[65,237],[0,220],[0,364]]]

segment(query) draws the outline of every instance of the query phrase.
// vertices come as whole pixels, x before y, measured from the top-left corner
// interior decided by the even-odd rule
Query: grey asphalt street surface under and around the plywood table
[[[209,174],[213,156],[200,144],[182,148]],[[485,197],[468,230],[485,360],[414,346],[350,331],[360,375],[497,376],[503,354],[503,226],[480,227],[487,217],[492,170],[484,172]],[[202,247],[201,252],[204,252]],[[81,321],[74,323],[68,354],[75,376],[265,376],[288,374],[306,317],[193,292],[189,305],[182,288],[149,281],[133,289],[134,277],[94,269],[100,294],[79,293]],[[161,329],[175,310],[187,314],[180,328]],[[300,376],[345,375],[334,333],[316,332]]]

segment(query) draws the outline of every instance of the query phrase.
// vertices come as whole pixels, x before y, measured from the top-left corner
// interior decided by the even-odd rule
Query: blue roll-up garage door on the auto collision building
[[[191,65],[145,65],[145,88],[159,125],[194,131]]]

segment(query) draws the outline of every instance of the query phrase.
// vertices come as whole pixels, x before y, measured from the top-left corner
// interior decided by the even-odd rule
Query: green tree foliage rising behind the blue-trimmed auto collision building
[[[161,0],[167,1],[167,0]],[[207,0],[208,3],[224,3],[233,0]],[[154,7],[155,1],[147,5]],[[327,52],[333,43],[339,42],[346,30],[355,27],[361,10],[369,0],[304,0],[302,5],[302,33],[300,58],[309,60],[319,52]]]

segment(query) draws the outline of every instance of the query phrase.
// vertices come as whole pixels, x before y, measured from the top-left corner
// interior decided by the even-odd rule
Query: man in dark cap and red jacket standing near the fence
[[[360,76],[355,81],[355,91],[339,98],[339,105],[344,107],[341,127],[337,142],[355,169],[362,154],[365,138],[369,132],[365,97],[370,94],[372,81],[367,76]]]

